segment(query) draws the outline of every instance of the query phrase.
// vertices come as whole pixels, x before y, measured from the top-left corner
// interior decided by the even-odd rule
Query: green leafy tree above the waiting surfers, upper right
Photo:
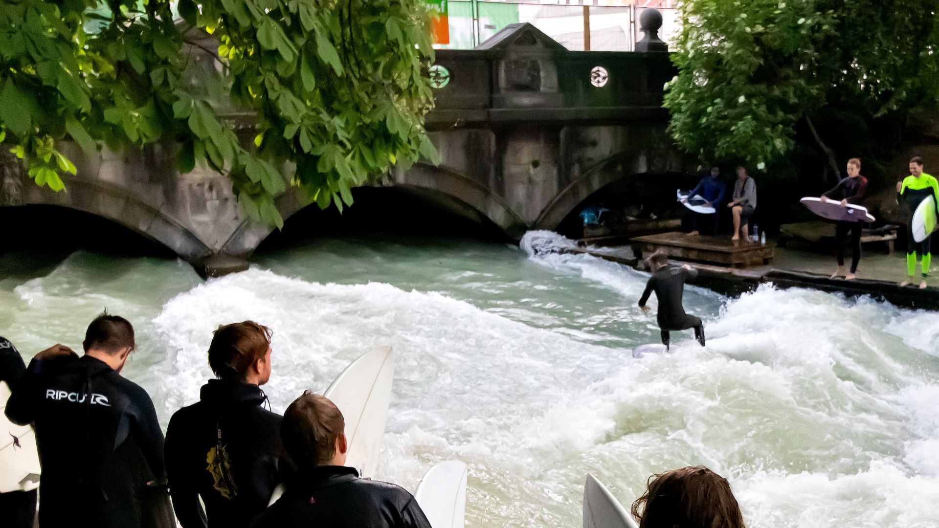
[[[670,132],[702,160],[773,163],[833,106],[870,117],[939,101],[939,0],[685,0]],[[837,169],[836,169],[837,171]]]

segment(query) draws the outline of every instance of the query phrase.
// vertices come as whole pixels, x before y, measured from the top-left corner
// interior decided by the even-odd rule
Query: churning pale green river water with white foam
[[[730,479],[751,527],[939,526],[939,314],[689,287],[707,348],[686,332],[634,358],[658,335],[636,307],[647,275],[531,251],[563,243],[323,239],[208,282],[171,259],[79,251],[34,272],[8,255],[20,272],[0,279],[0,334],[31,355],[79,349],[104,307],[130,318],[125,374],[164,426],[208,379],[219,324],[273,329],[264,388],[281,412],[393,345],[378,476],[413,490],[436,462],[467,462],[471,526],[579,526],[585,474],[628,505],[650,474],[695,464]]]

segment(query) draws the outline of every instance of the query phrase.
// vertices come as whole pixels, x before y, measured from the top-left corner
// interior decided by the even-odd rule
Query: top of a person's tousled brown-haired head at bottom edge
[[[730,483],[704,466],[652,475],[632,514],[639,528],[746,528]]]

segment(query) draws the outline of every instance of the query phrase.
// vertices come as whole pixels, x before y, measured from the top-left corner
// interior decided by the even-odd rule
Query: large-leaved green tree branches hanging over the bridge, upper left
[[[200,47],[218,64],[200,67]],[[89,154],[175,143],[180,171],[228,175],[279,226],[283,173],[342,210],[394,164],[436,161],[432,60],[422,0],[3,0],[0,141],[55,191],[75,174],[62,139]],[[234,131],[239,113],[254,141]]]

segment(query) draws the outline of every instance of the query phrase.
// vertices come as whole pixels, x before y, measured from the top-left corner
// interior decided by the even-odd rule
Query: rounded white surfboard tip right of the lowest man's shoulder
[[[463,528],[467,505],[467,465],[440,462],[423,475],[414,498],[431,528]]]

